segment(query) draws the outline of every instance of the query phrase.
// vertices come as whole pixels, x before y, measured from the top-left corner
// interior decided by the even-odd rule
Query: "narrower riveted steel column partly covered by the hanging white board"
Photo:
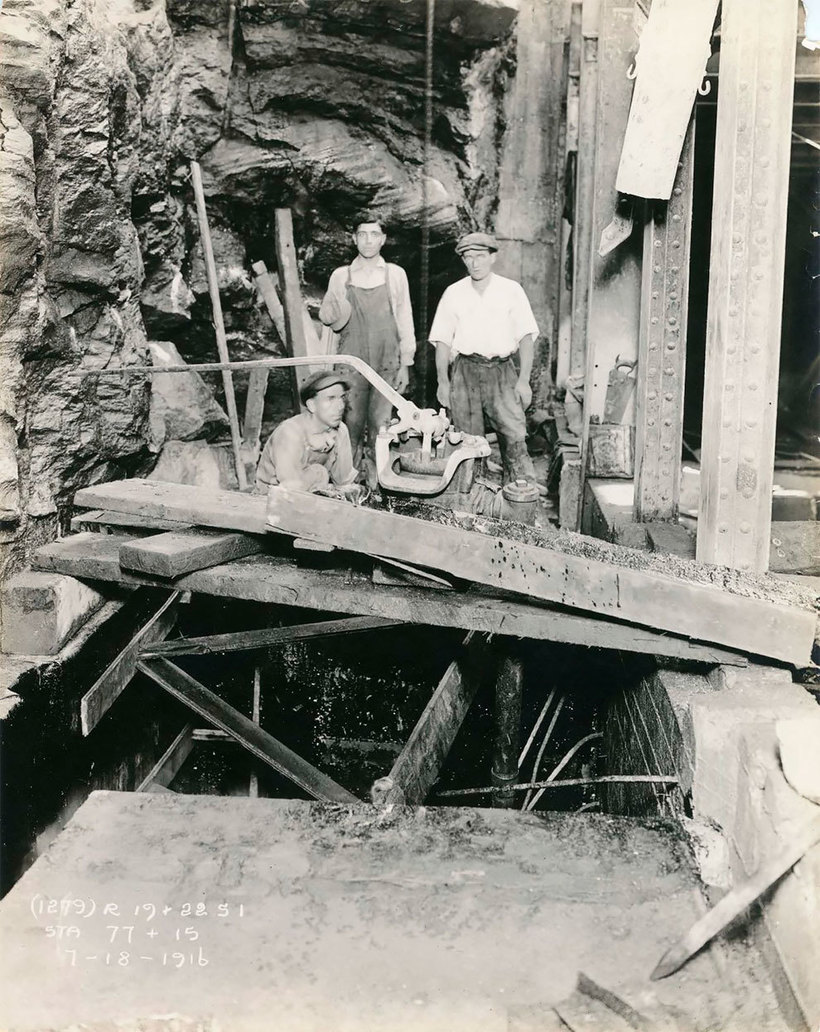
[[[681,489],[694,117],[668,202],[650,202],[635,398],[636,520],[676,520]]]

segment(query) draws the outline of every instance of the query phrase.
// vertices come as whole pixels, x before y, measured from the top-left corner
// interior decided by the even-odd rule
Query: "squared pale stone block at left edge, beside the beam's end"
[[[15,574],[0,591],[2,650],[55,655],[104,604],[104,595],[73,577]]]

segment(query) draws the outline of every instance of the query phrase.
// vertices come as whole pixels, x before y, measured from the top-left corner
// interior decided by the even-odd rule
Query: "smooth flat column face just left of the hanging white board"
[[[604,256],[598,254],[601,234],[615,218],[619,202],[615,178],[632,94],[632,84],[626,73],[635,46],[634,15],[635,4],[632,0],[601,0],[584,377],[584,434],[581,444],[582,475],[585,477],[589,425],[591,422],[604,421],[610,374],[615,368],[617,359],[633,361],[637,358],[643,247],[641,234],[633,231]],[[633,212],[635,222],[639,220],[641,214],[636,207]],[[631,399],[618,421],[634,425],[634,406]],[[580,497],[583,504],[583,490]]]

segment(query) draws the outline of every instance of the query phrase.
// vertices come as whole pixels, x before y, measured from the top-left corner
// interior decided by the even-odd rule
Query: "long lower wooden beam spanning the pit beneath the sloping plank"
[[[77,535],[38,549],[33,566],[87,580],[155,584],[143,574],[120,567],[123,539]],[[403,623],[460,627],[489,634],[566,642],[593,648],[645,652],[710,665],[746,664],[737,652],[659,634],[601,616],[585,616],[561,608],[523,602],[487,588],[441,592],[435,589],[382,587],[364,575],[348,571],[343,578],[305,569],[270,555],[252,556],[225,567],[186,574],[179,588],[218,598],[243,599],[268,605],[299,606],[321,612],[382,616]]]

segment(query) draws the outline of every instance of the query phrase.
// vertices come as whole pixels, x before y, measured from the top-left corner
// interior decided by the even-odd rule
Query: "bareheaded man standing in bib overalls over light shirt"
[[[353,234],[358,255],[350,265],[333,270],[319,318],[335,338],[329,350],[356,355],[402,394],[416,354],[409,287],[404,269],[386,262],[382,248],[387,235],[380,220],[367,214]],[[361,374],[348,375],[350,392],[345,422],[351,437],[354,465],[376,484],[373,447],[382,426],[390,422],[391,405]]]

